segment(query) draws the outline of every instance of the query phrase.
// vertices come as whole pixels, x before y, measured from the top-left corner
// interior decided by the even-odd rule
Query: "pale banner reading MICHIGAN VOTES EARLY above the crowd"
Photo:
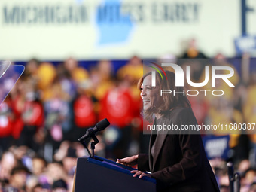
[[[2,59],[154,58],[191,38],[206,55],[233,56],[240,35],[232,0],[2,0],[0,13]]]

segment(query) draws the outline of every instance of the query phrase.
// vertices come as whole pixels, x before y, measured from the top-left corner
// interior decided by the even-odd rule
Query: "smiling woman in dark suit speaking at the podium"
[[[143,100],[143,115],[153,121],[152,127],[174,125],[177,130],[151,130],[149,154],[137,154],[117,160],[126,166],[138,164],[134,176],[151,177],[157,180],[157,191],[169,192],[214,192],[219,191],[215,175],[207,160],[200,133],[181,130],[184,125],[197,125],[187,96],[163,94],[160,90],[182,93],[183,87],[175,87],[175,74],[165,71],[166,79],[155,73],[144,75],[138,83]],[[158,126],[157,126],[158,125]],[[145,173],[151,172],[151,174]]]

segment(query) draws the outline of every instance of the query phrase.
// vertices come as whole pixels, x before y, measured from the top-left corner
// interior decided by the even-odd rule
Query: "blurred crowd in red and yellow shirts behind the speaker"
[[[235,88],[216,82],[224,96],[189,96],[197,121],[256,123],[256,70],[252,70],[248,54],[239,63],[221,53],[208,58],[191,41],[183,55],[166,55],[156,62],[161,59],[212,59],[212,65],[231,66],[235,73],[230,81]],[[56,65],[29,60],[0,105],[0,191],[72,191],[76,159],[87,154],[78,138],[103,118],[108,118],[111,126],[97,136],[97,155],[115,160],[148,153],[149,135],[143,134],[145,122],[137,88],[142,62],[133,56],[118,68],[110,60],[84,68],[72,57]],[[180,65],[184,69],[190,65],[191,79],[203,82],[206,63],[192,64],[185,61]],[[241,175],[241,191],[256,191],[254,132],[202,133],[230,135],[228,158],[210,160],[222,192],[229,191],[227,160]]]

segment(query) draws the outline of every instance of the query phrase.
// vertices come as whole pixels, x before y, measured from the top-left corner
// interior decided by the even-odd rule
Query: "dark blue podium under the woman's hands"
[[[134,178],[130,166],[102,157],[79,157],[75,175],[75,192],[155,192],[156,180],[143,177]]]

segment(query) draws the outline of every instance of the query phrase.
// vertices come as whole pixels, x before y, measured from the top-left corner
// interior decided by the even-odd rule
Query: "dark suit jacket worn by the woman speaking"
[[[181,125],[196,125],[197,120],[190,109],[176,108],[155,120],[156,123],[173,123],[179,128]],[[139,154],[138,169],[151,171],[151,177],[157,180],[157,191],[219,191],[199,134],[187,134],[181,130],[169,131],[168,134],[158,132],[157,136],[151,134],[149,154]]]

